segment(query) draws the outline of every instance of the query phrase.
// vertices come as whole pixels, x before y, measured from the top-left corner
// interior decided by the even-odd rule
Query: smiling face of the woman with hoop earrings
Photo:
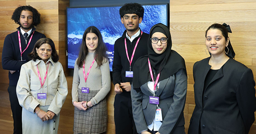
[[[213,56],[221,56],[225,54],[225,47],[228,46],[229,38],[225,37],[218,29],[209,29],[207,31],[205,44],[209,53]]]

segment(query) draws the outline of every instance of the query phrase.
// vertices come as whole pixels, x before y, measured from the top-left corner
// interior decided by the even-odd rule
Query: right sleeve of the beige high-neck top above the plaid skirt
[[[100,101],[102,101],[107,96],[111,88],[111,78],[108,60],[106,61],[106,63],[103,63],[102,66],[100,66],[100,70],[102,74],[102,88],[95,95],[95,97],[90,100],[93,105],[96,105]]]

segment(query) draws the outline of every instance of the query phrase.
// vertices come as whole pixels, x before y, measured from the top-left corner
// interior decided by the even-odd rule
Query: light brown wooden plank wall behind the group
[[[69,6],[69,0],[0,0],[0,131],[4,134],[12,133],[13,121],[7,92],[8,71],[2,69],[1,56],[4,38],[18,27],[10,18],[14,9],[20,5],[31,5],[38,9],[42,15],[41,24],[37,26],[38,31],[52,38],[59,51],[60,62],[64,67],[67,66],[65,9]],[[171,0],[172,49],[184,57],[188,74],[188,92],[184,110],[186,131],[195,107],[192,67],[196,61],[209,56],[205,53],[204,34],[212,23],[230,25],[233,31],[230,40],[236,52],[236,60],[251,68],[256,78],[256,0]],[[58,134],[72,134],[73,129],[72,77],[67,77],[67,81],[69,94],[61,110]],[[111,92],[108,94],[107,134],[114,134],[114,96],[112,84]],[[250,134],[256,134],[256,122]]]

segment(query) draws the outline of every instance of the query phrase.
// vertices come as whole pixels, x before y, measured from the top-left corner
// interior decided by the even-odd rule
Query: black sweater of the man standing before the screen
[[[113,84],[116,83],[125,83],[125,82],[132,82],[132,78],[125,77],[125,71],[130,70],[130,63],[127,59],[126,52],[125,52],[125,38],[127,43],[127,50],[129,59],[131,60],[131,55],[134,50],[135,44],[139,37],[140,41],[138,43],[138,46],[136,48],[136,51],[134,53],[134,58],[131,63],[131,71],[133,71],[133,66],[136,60],[144,55],[148,54],[148,34],[144,33],[136,37],[132,42],[126,38],[126,30],[124,31],[122,37],[116,40],[114,45],[114,59],[113,59]],[[127,94],[125,90],[123,90],[122,95]],[[130,92],[128,93],[128,96],[131,96]],[[126,95],[125,95],[126,96]]]

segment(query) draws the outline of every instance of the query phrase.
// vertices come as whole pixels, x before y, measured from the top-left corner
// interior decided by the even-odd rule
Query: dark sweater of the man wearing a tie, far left
[[[20,27],[18,27],[17,30],[20,31]],[[11,74],[9,72],[9,86],[17,85],[17,82],[20,77],[21,66],[24,63],[31,60],[28,58],[27,55],[33,50],[34,45],[37,40],[46,37],[44,34],[41,34],[37,31],[35,31],[35,28],[33,27],[31,34],[27,38],[27,43],[29,42],[29,39],[32,36],[33,31],[35,31],[35,33],[33,34],[32,40],[29,44],[29,47],[22,54],[22,60],[26,60],[26,61],[18,61],[18,60],[20,60],[20,47],[19,47],[18,31],[8,34],[3,43],[3,53],[2,53],[3,69],[15,71],[15,73],[13,73],[13,74]],[[23,51],[26,48],[27,44],[26,44],[25,38],[21,34],[21,31],[20,31],[20,42],[21,42],[21,49]]]

